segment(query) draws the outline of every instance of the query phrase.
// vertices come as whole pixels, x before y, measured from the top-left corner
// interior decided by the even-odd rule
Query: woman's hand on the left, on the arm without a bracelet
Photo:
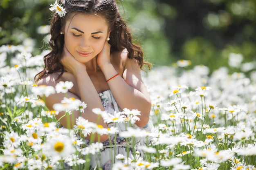
[[[65,70],[69,73],[72,73],[73,75],[76,74],[81,67],[85,67],[85,64],[77,61],[74,56],[67,50],[67,47],[63,46],[63,52],[62,52],[62,57],[61,57],[61,64],[64,66]]]

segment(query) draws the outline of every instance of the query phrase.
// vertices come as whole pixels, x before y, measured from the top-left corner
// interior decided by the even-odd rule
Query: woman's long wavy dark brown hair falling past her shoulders
[[[124,19],[121,18],[115,0],[59,0],[58,4],[63,4],[62,6],[67,13],[64,17],[60,17],[58,13],[55,13],[51,20],[51,39],[49,40],[49,45],[52,51],[44,56],[45,68],[34,77],[36,82],[46,74],[61,70],[61,74],[58,76],[60,78],[64,73],[63,65],[60,63],[64,35],[60,34],[60,31],[66,19],[74,13],[96,14],[103,17],[108,22],[108,27],[111,31],[109,40],[111,45],[110,52],[127,49],[129,53],[128,58],[136,59],[141,69],[144,64],[150,68],[150,64],[143,60],[141,47],[132,43],[130,29],[127,27]]]

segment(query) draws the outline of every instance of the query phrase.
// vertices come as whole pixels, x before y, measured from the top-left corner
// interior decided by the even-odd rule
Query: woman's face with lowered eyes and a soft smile
[[[108,23],[97,15],[76,14],[65,24],[65,46],[82,63],[101,52],[108,36]]]

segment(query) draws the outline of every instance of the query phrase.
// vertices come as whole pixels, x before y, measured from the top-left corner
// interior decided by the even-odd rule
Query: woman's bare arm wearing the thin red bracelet
[[[101,53],[98,56],[102,58],[105,57],[104,62],[101,58],[98,59],[98,63],[106,79],[108,80],[116,75],[117,71],[111,64],[110,60],[108,60],[108,58],[104,55],[107,55],[107,53]],[[121,109],[137,109],[141,112],[141,116],[139,116],[140,121],[137,121],[136,125],[139,127],[144,127],[148,123],[150,115],[150,95],[148,94],[146,86],[141,79],[141,69],[137,60],[129,59],[127,55],[127,52],[123,52],[120,56],[124,57],[124,60],[126,60],[123,75],[116,76],[108,81],[108,86],[110,87],[110,90]]]

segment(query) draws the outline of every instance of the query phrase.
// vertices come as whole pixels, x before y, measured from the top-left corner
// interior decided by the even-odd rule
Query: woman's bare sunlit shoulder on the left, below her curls
[[[48,75],[45,75],[42,79],[40,79],[38,82],[37,82],[37,85],[40,86],[40,85],[46,85],[46,86],[54,86],[62,81],[62,79],[58,79],[58,76],[60,75],[59,72],[57,73],[51,73],[51,74],[48,74]]]

